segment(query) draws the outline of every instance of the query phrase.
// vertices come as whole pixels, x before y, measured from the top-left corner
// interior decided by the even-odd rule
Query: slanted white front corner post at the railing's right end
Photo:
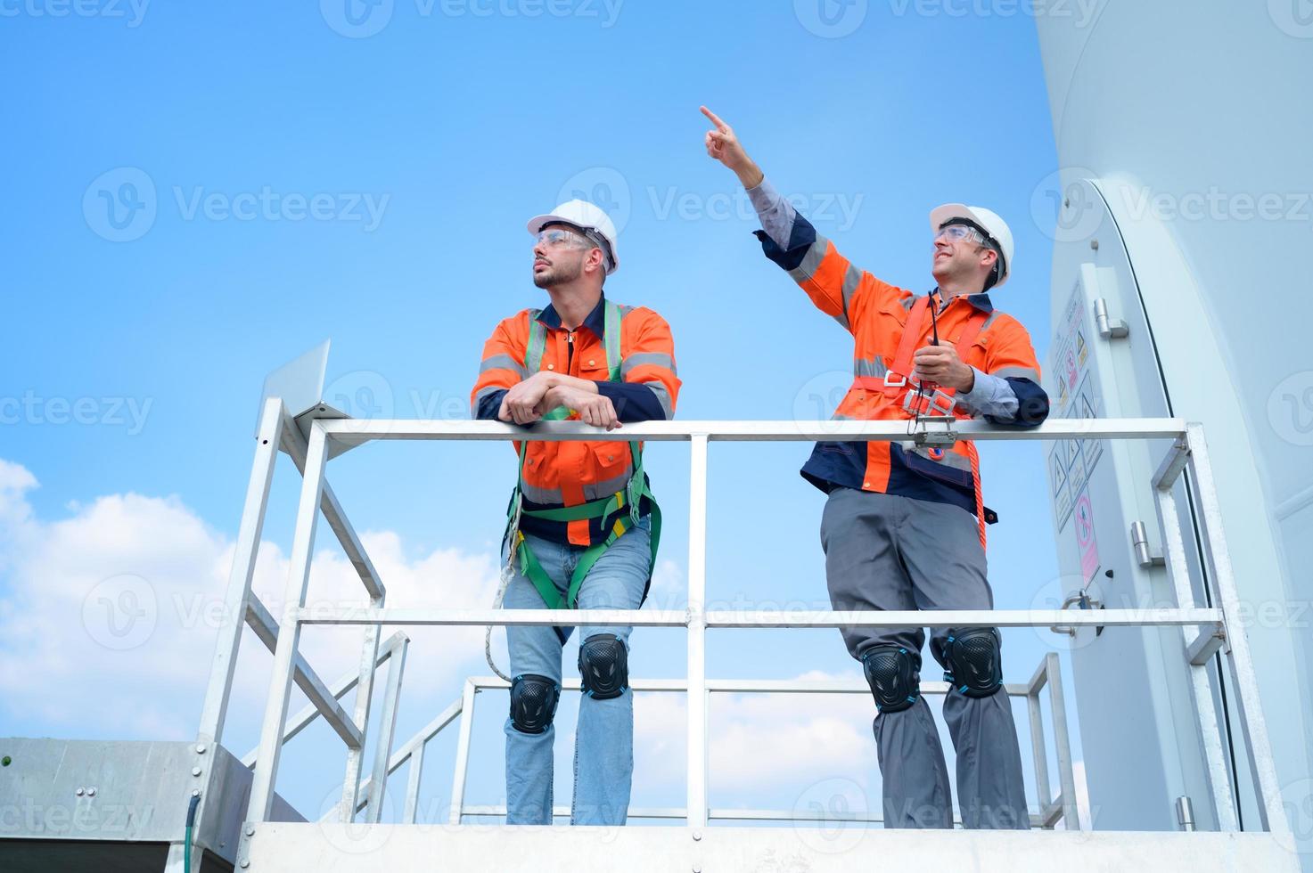
[[[1281,789],[1276,781],[1276,764],[1272,761],[1272,747],[1267,738],[1267,719],[1263,704],[1258,697],[1258,676],[1249,651],[1249,638],[1241,625],[1239,595],[1236,591],[1236,576],[1232,572],[1230,553],[1222,533],[1222,511],[1217,498],[1217,484],[1213,480],[1213,467],[1208,459],[1208,445],[1200,424],[1186,425],[1186,441],[1190,448],[1190,473],[1194,479],[1200,508],[1200,528],[1203,533],[1209,574],[1216,586],[1217,605],[1226,624],[1226,643],[1230,651],[1226,664],[1230,667],[1232,681],[1239,697],[1241,725],[1245,730],[1245,748],[1249,752],[1249,767],[1254,775],[1258,793],[1258,813],[1266,830],[1274,834],[1289,834],[1285,810],[1281,807]]]

